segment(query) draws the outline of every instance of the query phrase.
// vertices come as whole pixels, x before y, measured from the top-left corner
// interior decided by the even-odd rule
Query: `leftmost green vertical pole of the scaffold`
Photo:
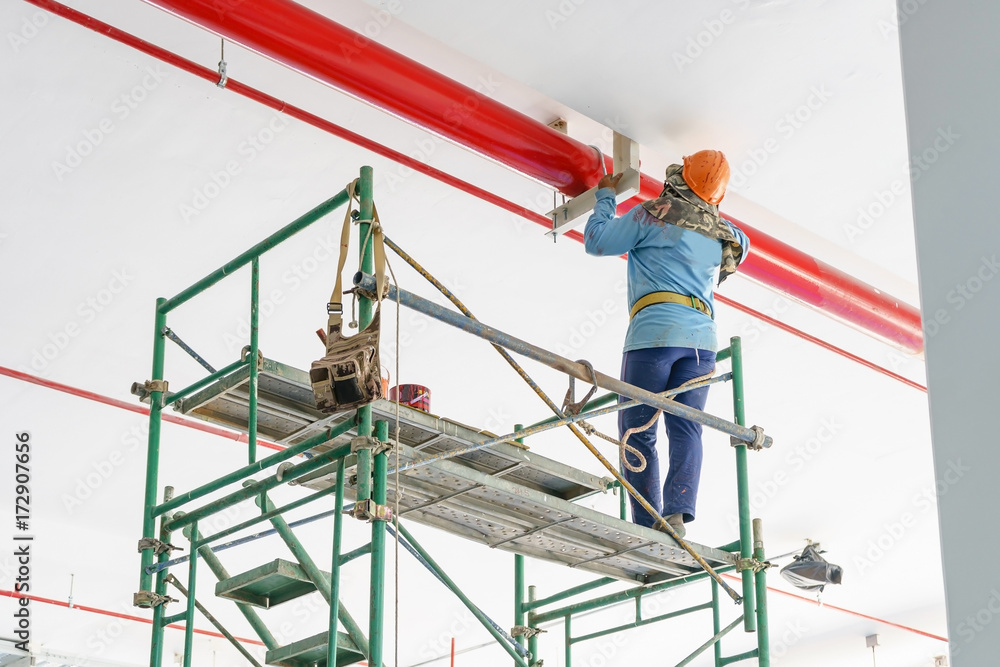
[[[153,325],[153,372],[152,380],[163,379],[164,356],[166,353],[166,338],[163,335],[167,328],[166,313],[160,312],[161,306],[166,303],[166,299],[156,300],[156,317]],[[160,472],[160,412],[163,409],[163,392],[154,391],[149,398],[149,439],[146,446],[146,489],[144,495],[144,506],[142,515],[142,536],[156,537],[156,519],[153,517],[153,508],[156,507],[156,491]],[[162,554],[166,556],[166,554]],[[163,560],[163,558],[161,558]],[[141,570],[139,573],[139,590],[153,590],[153,575],[146,571],[146,568],[153,564],[153,551],[146,549],[142,552]],[[156,577],[155,592],[165,593],[166,582],[163,578],[166,575],[163,571]],[[161,590],[162,589],[162,590]],[[163,659],[163,609],[164,605],[153,607],[153,631],[150,639],[150,667],[159,667]]]

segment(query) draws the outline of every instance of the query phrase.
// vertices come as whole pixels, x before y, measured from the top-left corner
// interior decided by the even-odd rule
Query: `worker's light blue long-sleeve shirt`
[[[693,295],[715,312],[712,285],[722,258],[722,244],[688,229],[658,220],[642,206],[615,217],[615,192],[597,191],[597,204],[584,228],[588,255],[619,256],[628,253],[628,305],[650,292]],[[750,241],[741,229],[732,228],[743,257]],[[639,311],[629,322],[624,351],[648,347],[718,349],[715,322],[701,311],[678,303],[658,303]]]

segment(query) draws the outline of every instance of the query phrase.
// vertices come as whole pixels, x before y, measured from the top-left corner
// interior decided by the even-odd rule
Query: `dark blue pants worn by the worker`
[[[622,356],[621,378],[629,384],[659,393],[674,389],[688,380],[710,373],[715,368],[715,352],[688,347],[652,347],[631,350]],[[678,403],[705,409],[708,387],[684,392],[674,397]],[[618,413],[618,435],[622,437],[630,428],[639,428],[649,422],[656,408],[637,405]],[[646,457],[646,469],[631,472],[623,468],[625,479],[649,501],[661,516],[683,514],[684,521],[694,521],[695,502],[698,499],[698,479],[701,476],[701,424],[663,413],[663,422],[669,442],[670,465],[667,479],[660,488],[660,460],[656,451],[657,424],[641,433],[633,433],[628,444]],[[627,454],[628,461],[636,466],[634,454]],[[637,467],[637,466],[636,466]],[[635,498],[632,501],[632,522],[652,527],[653,517]]]

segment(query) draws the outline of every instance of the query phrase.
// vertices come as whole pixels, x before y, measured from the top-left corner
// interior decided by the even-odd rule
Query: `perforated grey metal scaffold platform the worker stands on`
[[[244,366],[201,391],[177,401],[184,415],[246,432],[249,422],[250,369]],[[286,446],[335,427],[354,413],[327,415],[316,410],[309,375],[270,359],[258,370],[258,433]],[[372,418],[395,423],[396,404],[372,404]],[[483,443],[496,436],[405,405],[399,406],[401,466],[429,454]],[[390,426],[390,433],[392,427]],[[311,454],[350,442],[343,433]],[[389,458],[395,464],[395,454]],[[354,472],[348,459],[347,479]],[[311,489],[334,483],[336,465],[319,469],[296,483]],[[595,493],[616,491],[610,477],[533,453],[515,443],[400,473],[403,518],[431,525],[475,542],[513,553],[562,563],[620,580],[650,584],[701,572],[701,566],[668,535],[637,526],[579,504]],[[388,505],[395,506],[390,473]],[[346,496],[353,500],[356,483]],[[617,492],[621,492],[617,489]],[[733,565],[738,554],[688,543],[713,567]]]

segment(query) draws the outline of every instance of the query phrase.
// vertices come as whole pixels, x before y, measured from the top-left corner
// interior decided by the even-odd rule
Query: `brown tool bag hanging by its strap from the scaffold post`
[[[378,305],[372,321],[362,331],[349,337],[341,333],[344,313],[341,273],[347,261],[347,247],[351,239],[351,205],[357,196],[357,183],[354,181],[348,186],[351,198],[340,235],[337,283],[327,304],[329,318],[326,327],[326,354],[322,359],[314,361],[309,369],[309,381],[316,398],[316,408],[331,414],[345,412],[382,398],[379,338],[385,287],[385,246],[382,241],[382,227],[374,207],[369,236],[363,243],[372,243]]]

